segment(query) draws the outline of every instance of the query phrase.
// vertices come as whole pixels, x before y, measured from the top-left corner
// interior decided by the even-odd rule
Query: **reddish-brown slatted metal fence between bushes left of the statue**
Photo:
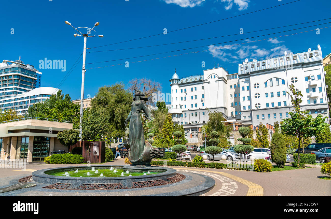
[[[105,142],[94,141],[77,141],[75,145],[69,148],[69,152],[73,148],[81,147],[84,163],[103,163],[105,162],[106,147]]]

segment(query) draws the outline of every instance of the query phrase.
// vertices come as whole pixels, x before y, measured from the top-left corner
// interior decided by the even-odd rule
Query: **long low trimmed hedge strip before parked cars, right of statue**
[[[199,168],[211,168],[211,169],[235,169],[235,170],[250,170],[248,164],[246,167],[240,166],[240,164],[231,164],[228,168],[226,163],[205,163],[205,162],[183,162],[183,161],[161,161],[152,160],[151,165],[155,166],[186,166],[186,167],[199,167]]]

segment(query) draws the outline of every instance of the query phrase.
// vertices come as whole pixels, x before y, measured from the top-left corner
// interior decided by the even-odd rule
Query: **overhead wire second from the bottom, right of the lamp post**
[[[326,23],[331,23],[331,22],[326,22]],[[321,24],[316,24],[316,25],[322,25],[322,24],[326,24],[326,23],[321,23]],[[171,52],[178,52],[178,51],[183,51],[183,50],[188,50],[188,49],[196,49],[196,48],[205,47],[205,46],[213,46],[213,45],[218,45],[218,44],[222,44],[222,43],[230,43],[230,42],[236,42],[236,41],[240,41],[240,40],[247,40],[247,39],[252,39],[252,38],[261,37],[261,36],[268,36],[268,35],[277,34],[277,33],[284,33],[284,32],[288,32],[288,31],[303,29],[303,28],[312,27],[312,26],[316,26],[316,25],[300,27],[300,28],[291,29],[291,30],[284,30],[284,31],[264,34],[264,35],[260,35],[260,36],[247,37],[247,38],[238,39],[238,40],[231,40],[231,41],[226,41],[226,42],[214,43],[214,44],[209,44],[209,45],[204,45],[204,46],[196,46],[196,47],[191,47],[191,48],[186,48],[186,49],[179,49],[179,50],[173,50],[173,51],[168,51],[168,52],[155,53],[155,54],[144,55],[144,56],[136,56],[136,57],[130,57],[130,58],[125,58],[125,59],[115,59],[115,60],[109,60],[109,61],[87,63],[86,65],[96,64],[96,63],[105,63],[105,62],[114,62],[114,61],[120,61],[120,60],[128,60],[128,59],[134,59],[134,58],[140,58],[140,57],[146,57],[146,56],[154,56],[154,55],[160,55],[160,54],[171,53]],[[272,37],[272,38],[276,38],[276,37]]]

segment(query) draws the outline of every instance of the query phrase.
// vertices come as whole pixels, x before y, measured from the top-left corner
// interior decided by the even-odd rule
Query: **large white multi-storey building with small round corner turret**
[[[273,124],[288,118],[291,107],[289,85],[302,91],[302,108],[329,115],[322,52],[318,45],[298,53],[263,60],[248,59],[228,74],[223,67],[207,69],[202,75],[170,79],[173,122],[184,126],[187,139],[195,142],[198,131],[208,121],[208,113],[220,111],[225,123],[235,125]]]

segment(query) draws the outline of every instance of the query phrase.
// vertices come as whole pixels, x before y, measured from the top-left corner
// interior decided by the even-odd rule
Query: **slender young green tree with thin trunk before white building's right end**
[[[298,152],[300,151],[300,145],[302,144],[302,138],[308,138],[321,132],[328,124],[326,124],[325,118],[322,115],[317,115],[313,118],[308,114],[308,111],[302,111],[300,104],[302,103],[301,91],[296,91],[293,84],[289,87],[290,92],[288,94],[291,97],[291,103],[294,108],[292,112],[289,112],[290,118],[285,118],[281,122],[282,132],[288,135],[298,136]],[[300,153],[298,154],[298,163],[300,163]]]

